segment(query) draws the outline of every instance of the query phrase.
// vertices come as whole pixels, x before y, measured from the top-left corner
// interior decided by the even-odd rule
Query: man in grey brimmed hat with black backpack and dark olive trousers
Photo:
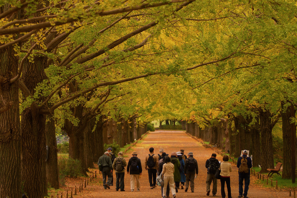
[[[193,152],[188,153],[188,158],[185,161],[185,175],[186,175],[186,189],[188,191],[189,182],[191,181],[191,192],[194,192],[194,179],[195,173],[198,175],[198,163],[197,160],[193,158]]]

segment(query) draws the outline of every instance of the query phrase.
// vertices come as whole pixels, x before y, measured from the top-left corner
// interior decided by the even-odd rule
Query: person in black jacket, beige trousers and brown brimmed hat
[[[134,191],[135,187],[135,179],[136,179],[136,187],[137,191],[140,191],[140,182],[139,182],[139,175],[142,173],[141,161],[137,157],[137,153],[133,152],[132,157],[129,159],[127,165],[127,173],[130,173],[130,185],[131,191]]]

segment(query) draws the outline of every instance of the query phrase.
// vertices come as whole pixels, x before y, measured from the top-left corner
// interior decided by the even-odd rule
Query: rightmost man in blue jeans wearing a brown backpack
[[[252,160],[247,156],[247,150],[242,152],[242,156],[237,160],[238,168],[238,184],[239,184],[239,195],[238,197],[248,198],[247,191],[249,190],[249,176],[250,168],[252,168]],[[244,193],[243,193],[243,180],[244,180]]]

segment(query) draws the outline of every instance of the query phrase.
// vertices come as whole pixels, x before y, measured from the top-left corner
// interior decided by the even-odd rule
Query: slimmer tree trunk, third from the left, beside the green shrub
[[[48,122],[45,126],[46,145],[48,146],[48,159],[46,159],[46,178],[50,187],[59,189],[59,170],[58,170],[58,154],[57,139],[54,118],[47,117]]]

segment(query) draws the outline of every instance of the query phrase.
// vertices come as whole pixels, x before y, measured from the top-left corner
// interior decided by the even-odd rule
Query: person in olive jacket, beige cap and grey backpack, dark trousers
[[[119,160],[119,161],[118,161]],[[118,161],[118,162],[117,162]],[[118,168],[120,166],[121,170],[117,170],[117,164]],[[116,157],[113,161],[112,167],[116,172],[116,191],[125,191],[125,184],[124,184],[124,177],[125,177],[125,168],[127,166],[126,160],[123,158],[123,152],[120,151],[118,153],[118,157]]]

